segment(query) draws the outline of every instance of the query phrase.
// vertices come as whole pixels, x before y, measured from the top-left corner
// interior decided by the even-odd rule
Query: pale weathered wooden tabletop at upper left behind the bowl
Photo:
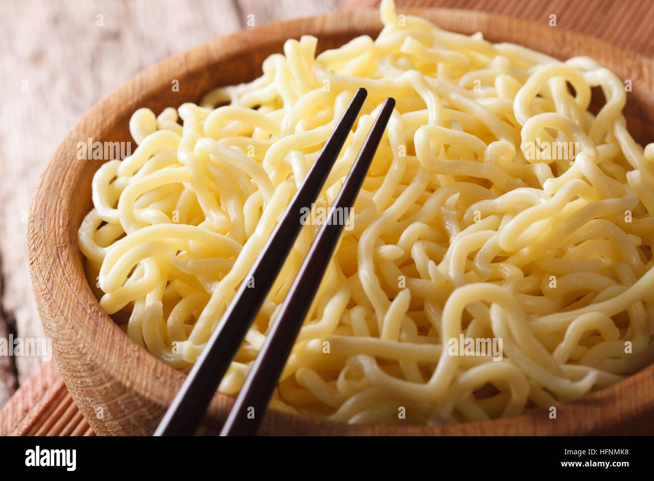
[[[1,1],[0,337],[43,336],[27,273],[27,212],[48,157],[84,112],[145,67],[247,28],[250,14],[261,25],[338,2]],[[0,407],[40,363],[0,357]]]

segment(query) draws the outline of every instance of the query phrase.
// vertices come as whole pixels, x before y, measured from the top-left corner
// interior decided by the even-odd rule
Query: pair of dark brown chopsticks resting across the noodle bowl
[[[354,94],[266,246],[254,261],[246,277],[254,279],[254,286],[249,287],[246,281],[241,283],[218,327],[163,416],[155,436],[188,436],[195,432],[300,234],[302,208],[310,208],[318,197],[367,95],[368,92],[364,88],[358,89]],[[394,107],[395,100],[386,99],[375,118],[368,137],[330,209],[328,219],[311,244],[309,253],[267,333],[266,341],[252,363],[245,383],[222,427],[221,436],[256,434],[343,231],[344,222],[342,218],[339,221],[338,213],[342,209],[349,212],[349,208],[353,206]]]

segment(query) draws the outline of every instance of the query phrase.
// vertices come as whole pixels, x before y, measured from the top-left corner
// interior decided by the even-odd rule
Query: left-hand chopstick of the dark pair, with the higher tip
[[[284,211],[282,219],[254,261],[246,280],[241,283],[220,323],[163,415],[154,436],[188,436],[196,430],[300,233],[301,208],[310,207],[320,194],[366,96],[368,92],[364,88],[359,88],[354,94],[334,132]],[[247,279],[254,279],[254,287],[249,286]]]

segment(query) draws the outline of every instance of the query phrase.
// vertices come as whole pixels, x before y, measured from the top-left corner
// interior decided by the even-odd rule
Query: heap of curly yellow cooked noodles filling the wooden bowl
[[[379,37],[129,122],[79,229],[100,305],[188,372],[356,88],[368,99],[220,391],[239,391],[383,99],[396,109],[271,406],[349,423],[515,416],[654,361],[654,145],[625,84],[381,3]],[[589,111],[591,88],[606,102]],[[314,215],[315,214],[315,215]]]

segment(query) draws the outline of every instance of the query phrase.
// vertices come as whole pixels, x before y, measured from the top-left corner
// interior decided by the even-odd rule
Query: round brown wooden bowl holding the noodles
[[[654,63],[560,27],[494,14],[449,9],[407,10],[452,31],[482,31],[493,42],[511,42],[558,58],[587,55],[632,80],[625,110],[632,135],[651,141]],[[173,56],[139,73],[97,103],[66,135],[41,177],[31,205],[27,242],[39,313],[61,375],[99,435],[150,435],[184,374],[137,346],[103,312],[84,276],[77,229],[92,208],[91,180],[99,160],[78,160],[77,143],[129,141],[129,117],[139,107],[156,113],[199,101],[211,88],[251,80],[288,37],[310,34],[318,48],[334,48],[364,33],[377,35],[373,10],[336,13],[247,29]],[[179,80],[179,92],[171,82]],[[598,100],[601,101],[601,98]],[[217,393],[205,426],[218,429],[232,398]],[[271,410],[260,433],[276,435],[626,435],[654,430],[654,366],[579,401],[548,412],[444,427],[347,425]]]

